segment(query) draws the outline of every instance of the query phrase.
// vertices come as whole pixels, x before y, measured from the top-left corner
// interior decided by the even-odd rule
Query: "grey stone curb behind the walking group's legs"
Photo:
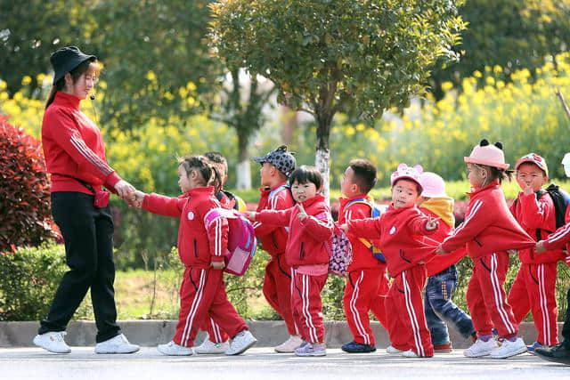
[[[172,339],[175,334],[175,320],[123,320],[118,325],[128,337],[129,341],[142,346],[156,346]],[[284,342],[289,334],[282,320],[248,320],[251,333],[257,338],[257,346],[273,347]],[[32,347],[32,339],[37,334],[37,321],[0,322],[0,347]],[[379,322],[371,322],[372,332],[376,337],[376,346],[386,348],[389,344],[386,330]],[[331,348],[338,348],[346,342],[353,340],[346,321],[325,322],[326,344]],[[558,336],[562,331],[562,323],[558,322]],[[93,346],[95,344],[96,327],[92,320],[77,320],[69,323],[68,335],[65,340],[71,346]],[[453,347],[468,348],[471,339],[465,339],[453,328],[449,329]],[[526,344],[536,340],[536,329],[533,322],[523,322],[519,326],[519,335],[525,339]],[[200,343],[205,334],[199,332],[196,342]]]

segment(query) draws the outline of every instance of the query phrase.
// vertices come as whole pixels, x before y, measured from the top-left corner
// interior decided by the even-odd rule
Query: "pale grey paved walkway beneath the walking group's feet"
[[[462,350],[428,360],[373,354],[348,355],[330,349],[322,358],[297,358],[270,348],[253,348],[244,355],[166,357],[154,347],[132,355],[97,355],[93,347],[73,347],[67,355],[39,348],[0,349],[4,379],[567,379],[570,367],[540,360],[525,353],[509,360],[467,359]]]

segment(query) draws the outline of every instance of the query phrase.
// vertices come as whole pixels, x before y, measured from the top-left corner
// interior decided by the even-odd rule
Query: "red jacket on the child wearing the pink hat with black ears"
[[[510,214],[498,181],[469,193],[469,205],[463,221],[444,239],[447,252],[467,244],[468,255],[477,259],[485,255],[534,247],[534,240]]]

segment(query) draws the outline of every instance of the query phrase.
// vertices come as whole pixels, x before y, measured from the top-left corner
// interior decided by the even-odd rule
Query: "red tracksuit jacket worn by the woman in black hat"
[[[115,192],[121,178],[107,164],[101,131],[79,110],[79,101],[59,91],[45,109],[42,146],[47,171],[52,174],[51,190],[93,194],[77,178],[95,189],[104,185]]]

